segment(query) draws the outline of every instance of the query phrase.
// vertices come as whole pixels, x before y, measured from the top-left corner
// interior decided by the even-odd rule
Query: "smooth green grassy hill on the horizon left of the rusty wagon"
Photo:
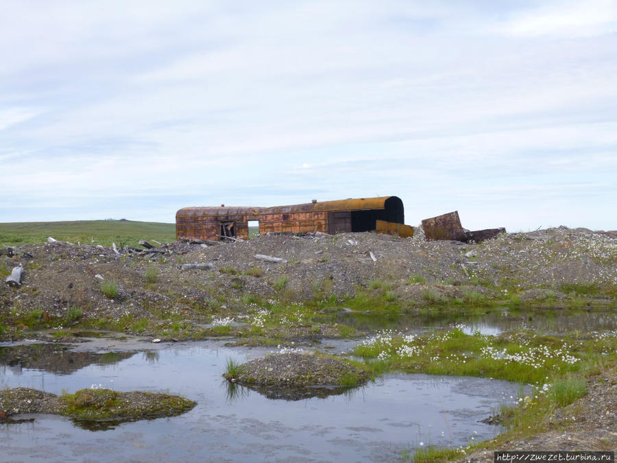
[[[73,222],[12,222],[0,224],[0,244],[43,243],[47,237],[77,244],[137,246],[140,239],[176,241],[176,225],[132,220],[77,220]],[[92,241],[94,239],[94,242]]]

